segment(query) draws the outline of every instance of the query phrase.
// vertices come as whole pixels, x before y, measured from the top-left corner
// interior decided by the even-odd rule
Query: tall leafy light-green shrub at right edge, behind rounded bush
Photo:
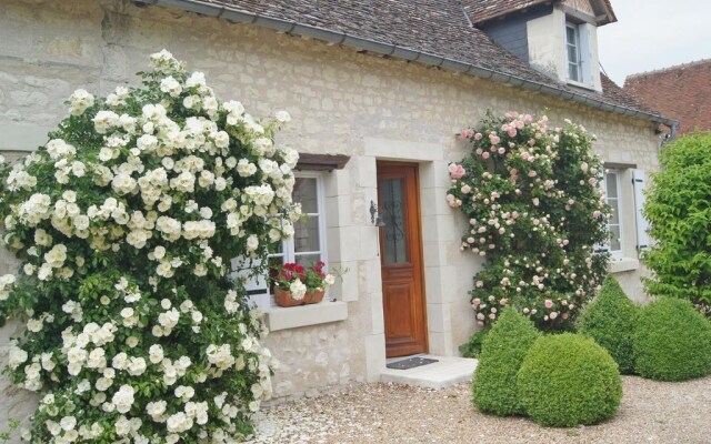
[[[654,271],[647,291],[711,304],[711,133],[664,147],[644,215],[657,241],[645,254]]]

